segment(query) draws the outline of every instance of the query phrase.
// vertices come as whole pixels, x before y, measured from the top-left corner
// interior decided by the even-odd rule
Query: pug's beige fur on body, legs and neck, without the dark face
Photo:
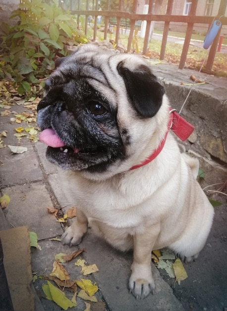
[[[169,120],[166,95],[153,118],[138,119],[121,111],[117,121],[133,137],[127,160],[116,161],[105,173],[62,172],[66,196],[77,207],[77,219],[62,235],[63,244],[76,245],[87,232],[95,233],[120,250],[134,248],[130,292],[144,298],[155,289],[151,271],[153,249],[169,247],[196,258],[210,232],[214,209],[196,181],[198,161],[180,154],[169,132],[162,152],[150,163],[141,163],[160,144]]]

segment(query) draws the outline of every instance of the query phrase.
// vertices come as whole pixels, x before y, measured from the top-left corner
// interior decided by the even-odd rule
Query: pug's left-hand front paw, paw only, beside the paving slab
[[[61,243],[63,245],[67,244],[70,247],[72,245],[78,245],[84,233],[87,232],[87,226],[78,224],[74,222],[70,227],[68,227],[65,232],[61,235]]]

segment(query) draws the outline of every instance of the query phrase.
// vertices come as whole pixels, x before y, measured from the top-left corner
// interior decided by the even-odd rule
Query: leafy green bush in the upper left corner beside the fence
[[[73,15],[52,2],[22,0],[10,17],[18,22],[1,24],[0,78],[11,81],[20,95],[35,92],[35,85],[54,70],[55,59],[65,55],[65,45],[88,42]]]

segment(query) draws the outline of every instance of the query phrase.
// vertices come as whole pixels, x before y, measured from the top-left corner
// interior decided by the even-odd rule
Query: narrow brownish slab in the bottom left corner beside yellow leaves
[[[27,227],[0,231],[4,268],[14,311],[34,311],[30,239]]]

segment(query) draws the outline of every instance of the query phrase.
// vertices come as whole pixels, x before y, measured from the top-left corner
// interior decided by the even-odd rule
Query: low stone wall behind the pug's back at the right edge
[[[206,184],[227,181],[227,79],[181,71],[173,65],[154,66],[154,73],[165,84],[171,106],[177,111],[192,87],[181,116],[195,130],[186,142],[179,143],[184,151],[199,158]],[[192,74],[206,83],[186,85],[192,84]]]

